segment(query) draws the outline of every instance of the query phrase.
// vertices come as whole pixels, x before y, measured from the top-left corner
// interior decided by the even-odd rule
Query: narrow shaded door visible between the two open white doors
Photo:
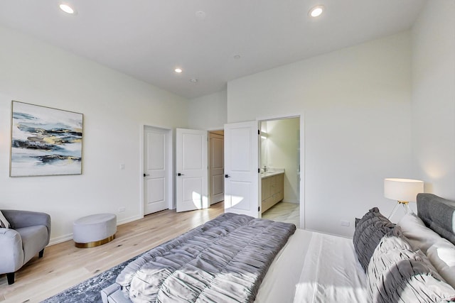
[[[209,133],[210,205],[225,199],[224,141],[223,131]]]

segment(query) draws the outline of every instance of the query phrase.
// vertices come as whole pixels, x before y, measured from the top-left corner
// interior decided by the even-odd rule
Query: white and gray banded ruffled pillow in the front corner
[[[381,239],[371,258],[367,272],[370,302],[455,302],[455,290],[423,253],[412,251],[399,229]]]

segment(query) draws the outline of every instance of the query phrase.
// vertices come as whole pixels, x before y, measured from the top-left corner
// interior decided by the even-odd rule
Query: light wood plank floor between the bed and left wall
[[[75,248],[73,241],[49,246],[43,258],[33,258],[16,272],[13,285],[8,285],[6,275],[0,275],[0,302],[41,302],[223,212],[223,202],[180,214],[160,211],[118,226],[117,238],[96,248]]]

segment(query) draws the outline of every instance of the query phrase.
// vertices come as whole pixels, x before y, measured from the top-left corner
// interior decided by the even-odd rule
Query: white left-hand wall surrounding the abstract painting
[[[87,214],[139,219],[140,133],[187,127],[187,100],[15,31],[0,36],[0,209],[49,213],[53,243]],[[82,175],[9,177],[11,100],[84,114]]]

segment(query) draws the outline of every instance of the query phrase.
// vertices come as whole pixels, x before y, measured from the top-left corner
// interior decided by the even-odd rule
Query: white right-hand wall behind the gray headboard
[[[428,1],[412,29],[413,150],[425,192],[455,200],[455,1]]]

